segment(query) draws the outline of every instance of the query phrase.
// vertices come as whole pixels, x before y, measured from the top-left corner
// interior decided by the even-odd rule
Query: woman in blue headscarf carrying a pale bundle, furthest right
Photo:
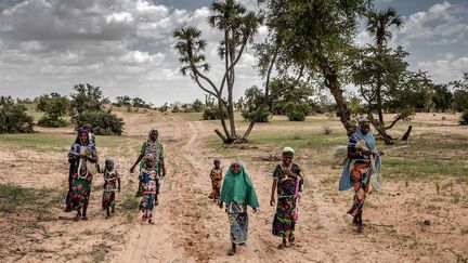
[[[364,229],[362,220],[364,201],[369,190],[370,177],[380,170],[380,156],[382,152],[376,150],[375,141],[370,131],[370,121],[366,117],[359,119],[359,127],[351,134],[348,145],[348,158],[339,182],[339,190],[354,188],[354,200],[348,211],[353,215],[353,225],[358,231]]]

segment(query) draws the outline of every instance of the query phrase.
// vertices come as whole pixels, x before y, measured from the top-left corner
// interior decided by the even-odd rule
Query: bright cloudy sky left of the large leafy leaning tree
[[[217,79],[223,70],[216,52],[220,32],[209,27],[209,14],[207,6],[178,10],[151,0],[26,0],[9,6],[0,12],[0,94],[69,94],[74,84],[89,82],[112,98],[127,94],[157,105],[203,97],[179,73],[172,31],[185,25],[203,30],[209,76]],[[250,53],[239,61],[238,95],[260,81],[253,61]]]

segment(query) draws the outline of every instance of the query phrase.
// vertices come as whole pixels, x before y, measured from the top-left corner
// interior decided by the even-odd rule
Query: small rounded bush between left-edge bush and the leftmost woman
[[[42,127],[65,127],[68,121],[63,117],[69,108],[69,101],[66,96],[58,93],[50,93],[41,95],[36,105],[36,110],[42,111],[46,115],[39,119],[38,126]]]

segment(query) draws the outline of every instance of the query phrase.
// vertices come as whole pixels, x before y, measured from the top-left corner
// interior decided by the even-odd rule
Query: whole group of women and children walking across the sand
[[[369,180],[380,167],[379,156],[381,154],[375,148],[368,119],[361,118],[355,133],[349,139],[348,158],[344,161],[339,182],[340,190],[353,187],[355,192],[352,207],[348,212],[353,215],[352,223],[359,231],[362,231],[364,226],[362,214],[369,189]],[[154,223],[152,213],[154,207],[158,205],[157,196],[160,180],[166,174],[164,155],[162,144],[158,141],[158,132],[156,129],[152,129],[136,161],[130,169],[133,172],[135,167],[140,166],[139,186],[135,196],[141,197],[139,208],[143,212],[142,220],[148,223]],[[272,234],[281,238],[278,249],[294,246],[296,242],[295,229],[299,218],[298,208],[303,192],[304,175],[302,169],[294,162],[294,157],[295,150],[291,147],[283,148],[282,160],[272,172],[270,205],[276,207],[272,220]],[[94,172],[101,171],[99,167],[95,171],[92,169],[98,162],[98,152],[94,142],[90,140],[89,130],[81,129],[78,131],[78,136],[68,154],[68,161],[70,163],[69,189],[65,211],[76,210],[77,220],[87,220],[91,182]],[[109,180],[110,174],[114,174],[114,179],[119,180],[110,157],[106,158],[104,174],[106,172],[107,179],[104,176],[105,180]],[[231,162],[222,186],[222,170],[219,159],[214,160],[214,168],[210,177],[213,189],[209,197],[218,200],[219,207],[224,208],[227,213],[232,244],[227,253],[233,255],[237,251],[237,246],[244,246],[247,241],[249,224],[247,207],[251,207],[256,213],[260,205],[252,182],[240,160]],[[106,185],[104,185],[104,189],[107,189]],[[120,181],[118,181],[118,187],[113,184],[112,189],[120,190]],[[104,192],[106,198],[103,196],[103,209],[107,209],[107,215],[109,206],[114,210],[115,195],[108,194],[112,189]],[[104,201],[106,202],[105,206]]]

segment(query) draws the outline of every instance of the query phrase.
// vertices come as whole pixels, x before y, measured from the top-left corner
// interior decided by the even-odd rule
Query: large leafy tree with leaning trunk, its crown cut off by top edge
[[[261,0],[265,4],[270,41],[276,43],[278,64],[304,68],[330,91],[337,115],[348,134],[354,131],[342,84],[348,61],[355,50],[358,18],[368,10],[367,0]]]

